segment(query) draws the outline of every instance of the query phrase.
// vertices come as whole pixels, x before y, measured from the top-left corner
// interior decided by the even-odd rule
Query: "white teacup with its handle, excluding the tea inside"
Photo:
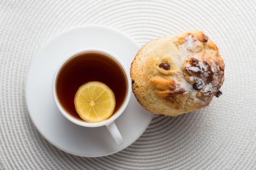
[[[102,52],[102,53],[106,53],[107,55],[111,56],[116,62],[118,62],[120,64],[120,66],[123,68],[126,78],[127,78],[127,83],[128,83],[128,88],[127,88],[127,93],[126,93],[126,99],[125,102],[123,102],[123,105],[120,107],[120,109],[114,113],[110,118],[101,121],[101,122],[97,122],[97,123],[90,123],[90,122],[86,122],[84,120],[80,120],[80,119],[75,119],[73,116],[71,116],[69,113],[67,113],[67,111],[63,108],[63,106],[60,104],[57,94],[56,94],[56,79],[58,77],[58,73],[61,70],[62,66],[64,65],[64,63],[66,61],[68,61],[70,58],[74,57],[76,54],[79,54],[81,52],[87,52],[87,51],[96,51],[96,52]],[[106,126],[110,135],[113,137],[114,141],[118,144],[121,145],[123,143],[123,137],[121,136],[118,128],[116,127],[116,124],[114,122],[115,119],[117,119],[126,109],[128,102],[130,100],[130,95],[131,95],[131,81],[129,79],[129,72],[127,71],[127,69],[125,68],[124,64],[120,61],[120,59],[115,56],[114,54],[108,52],[108,51],[104,51],[101,49],[95,49],[95,48],[91,48],[91,49],[84,49],[81,51],[77,51],[75,53],[73,53],[72,55],[70,55],[69,57],[67,57],[67,59],[60,64],[60,66],[57,68],[54,77],[53,77],[53,82],[52,82],[52,94],[53,94],[53,98],[54,101],[57,105],[57,107],[59,108],[60,112],[63,114],[63,116],[70,120],[71,122],[78,124],[80,126],[85,126],[85,127],[99,127],[99,126]]]

